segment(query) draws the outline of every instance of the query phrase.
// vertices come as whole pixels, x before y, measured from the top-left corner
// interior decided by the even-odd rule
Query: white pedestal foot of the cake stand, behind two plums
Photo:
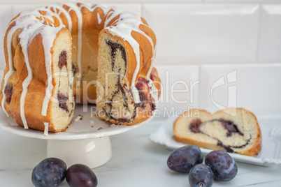
[[[99,167],[107,163],[111,156],[109,136],[81,140],[48,140],[47,157],[60,158],[68,167],[76,163],[90,168]]]

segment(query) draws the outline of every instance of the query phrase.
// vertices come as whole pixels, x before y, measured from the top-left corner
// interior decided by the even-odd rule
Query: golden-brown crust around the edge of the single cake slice
[[[196,145],[198,147],[203,147],[203,148],[206,148],[206,149],[219,149],[219,150],[226,151],[226,149],[224,149],[224,147],[219,147],[219,146],[217,146],[217,144],[212,144],[212,143],[209,143],[209,142],[194,140],[192,137],[183,137],[181,135],[178,135],[177,128],[178,128],[180,118],[189,117],[189,114],[192,113],[192,112],[199,113],[199,114],[200,113],[206,114],[210,117],[210,119],[212,119],[212,116],[215,115],[215,114],[219,114],[221,112],[227,112],[227,111],[233,110],[233,109],[237,109],[237,110],[243,111],[247,114],[250,114],[250,116],[253,117],[253,119],[254,119],[255,128],[257,128],[256,141],[252,144],[252,146],[249,147],[246,150],[243,150],[243,151],[236,151],[236,153],[242,154],[242,155],[245,155],[245,156],[257,156],[257,154],[259,154],[259,151],[261,151],[261,129],[259,127],[257,117],[255,117],[255,115],[252,112],[250,112],[249,110],[245,110],[244,108],[226,108],[224,110],[219,110],[219,111],[215,112],[214,114],[211,114],[210,112],[207,112],[206,110],[198,110],[198,109],[187,110],[187,111],[183,112],[180,115],[180,117],[178,117],[173,123],[174,139],[178,142],[193,144],[193,145]],[[197,118],[197,117],[195,117],[195,118]],[[187,124],[187,126],[188,126],[188,124]]]

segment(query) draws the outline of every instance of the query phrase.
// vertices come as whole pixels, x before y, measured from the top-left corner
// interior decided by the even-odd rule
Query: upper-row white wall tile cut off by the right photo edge
[[[281,61],[281,5],[261,8],[258,61]]]

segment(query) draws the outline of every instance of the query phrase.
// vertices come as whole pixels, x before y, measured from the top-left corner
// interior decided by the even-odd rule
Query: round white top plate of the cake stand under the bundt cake
[[[112,125],[108,121],[100,120],[93,115],[91,117],[91,112],[94,111],[96,111],[95,105],[87,105],[84,108],[83,105],[76,105],[72,124],[69,126],[69,128],[62,133],[49,133],[49,135],[46,136],[43,135],[43,131],[24,129],[22,126],[17,125],[13,119],[7,117],[6,114],[1,110],[0,128],[15,135],[21,135],[24,137],[35,137],[48,140],[79,140],[124,133],[128,130],[137,128],[138,126],[141,126],[152,119],[152,117],[150,117],[150,119],[132,126],[117,124]],[[75,122],[74,119],[78,117],[79,114],[82,115],[83,118],[82,120]]]

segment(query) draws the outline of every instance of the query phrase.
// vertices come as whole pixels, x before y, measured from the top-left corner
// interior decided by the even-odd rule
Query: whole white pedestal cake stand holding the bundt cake
[[[124,133],[152,119],[132,126],[114,125],[95,117],[94,111],[94,105],[76,105],[72,124],[65,132],[44,135],[43,131],[17,125],[1,110],[0,128],[15,135],[48,140],[47,157],[61,158],[69,166],[82,163],[94,168],[107,163],[112,156],[110,135]],[[82,119],[75,121],[79,114]]]

